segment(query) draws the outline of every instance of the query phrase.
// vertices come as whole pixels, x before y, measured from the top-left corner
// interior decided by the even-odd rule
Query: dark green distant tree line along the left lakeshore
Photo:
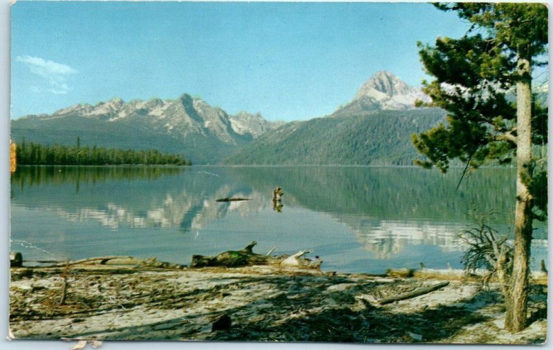
[[[168,155],[158,150],[123,150],[97,146],[35,144],[25,139],[17,145],[17,164],[21,165],[191,165],[182,155]]]

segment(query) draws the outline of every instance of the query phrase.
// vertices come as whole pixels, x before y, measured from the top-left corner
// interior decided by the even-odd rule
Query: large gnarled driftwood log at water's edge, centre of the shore
[[[302,257],[312,251],[299,251],[294,255],[271,256],[256,254],[252,251],[257,242],[252,242],[239,251],[225,251],[214,257],[205,255],[192,255],[190,267],[241,267],[253,265],[278,265],[297,266],[308,269],[319,269],[321,260],[313,261]]]

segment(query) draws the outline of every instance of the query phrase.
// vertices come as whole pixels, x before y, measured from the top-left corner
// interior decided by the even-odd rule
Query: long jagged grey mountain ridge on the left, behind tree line
[[[188,94],[174,100],[111,99],[77,104],[52,115],[12,121],[12,137],[43,144],[82,144],[118,148],[156,148],[184,154],[196,164],[214,164],[225,155],[279,126],[260,113],[229,115]]]

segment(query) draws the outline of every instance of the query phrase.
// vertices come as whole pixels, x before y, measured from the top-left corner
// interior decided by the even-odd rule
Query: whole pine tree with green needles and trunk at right
[[[489,159],[509,162],[516,155],[516,211],[512,270],[505,280],[505,328],[527,322],[532,220],[547,205],[545,159],[532,157],[532,145],[547,143],[547,110],[532,98],[532,68],[547,52],[547,8],[538,3],[439,3],[472,23],[460,39],[438,38],[422,45],[420,57],[435,80],[424,82],[431,106],[447,110],[447,125],[413,135],[427,157],[418,164],[449,168],[460,159],[478,168]],[[516,104],[507,94],[515,93]]]

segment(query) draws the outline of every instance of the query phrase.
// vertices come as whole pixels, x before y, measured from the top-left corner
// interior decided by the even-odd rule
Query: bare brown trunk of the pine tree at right
[[[527,179],[532,158],[532,95],[530,60],[518,58],[516,83],[516,209],[512,284],[505,295],[505,329],[514,333],[526,327],[530,242],[532,242],[532,202]],[[526,181],[525,181],[526,180]]]

